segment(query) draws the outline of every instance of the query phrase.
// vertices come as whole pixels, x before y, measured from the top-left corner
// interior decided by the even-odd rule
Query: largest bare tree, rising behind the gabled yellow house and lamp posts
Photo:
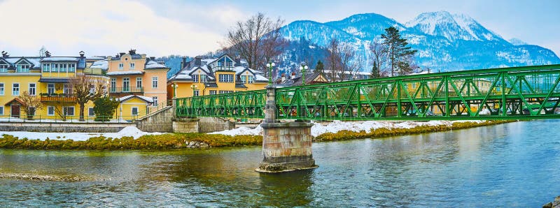
[[[246,59],[249,68],[266,73],[265,64],[281,54],[285,45],[280,34],[283,22],[280,18],[271,20],[262,13],[239,21],[228,31],[224,50]]]

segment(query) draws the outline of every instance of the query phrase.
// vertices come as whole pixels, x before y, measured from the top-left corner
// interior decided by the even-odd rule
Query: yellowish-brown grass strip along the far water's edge
[[[337,133],[324,133],[314,138],[315,142],[354,140],[363,138],[384,138],[396,135],[412,135],[419,133],[432,133],[449,131],[461,128],[473,128],[503,124],[512,121],[484,121],[456,122],[451,126],[416,126],[414,128],[377,128],[366,133],[365,131],[339,131]],[[106,138],[104,136],[90,138],[85,141],[73,140],[28,140],[15,138],[13,135],[1,135],[0,149],[183,149],[188,148],[188,142],[205,142],[210,147],[241,147],[262,144],[260,135],[218,135],[205,133],[168,133],[162,135],[144,135],[134,140],[132,137]]]

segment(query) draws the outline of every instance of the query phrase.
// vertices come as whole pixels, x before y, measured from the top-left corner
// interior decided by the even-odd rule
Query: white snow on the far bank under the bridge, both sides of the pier
[[[402,121],[402,122],[391,122],[391,121],[332,121],[327,124],[313,123],[311,126],[311,135],[314,137],[321,135],[323,133],[337,133],[342,130],[347,131],[365,131],[367,133],[371,132],[372,129],[377,128],[414,128],[416,126],[439,126],[447,125],[450,126],[455,122],[465,122],[465,121]],[[483,121],[470,121],[470,122],[483,122]],[[257,126],[257,128],[247,128],[239,127],[232,130],[226,131],[216,131],[211,134],[222,134],[222,135],[262,135],[262,128]]]

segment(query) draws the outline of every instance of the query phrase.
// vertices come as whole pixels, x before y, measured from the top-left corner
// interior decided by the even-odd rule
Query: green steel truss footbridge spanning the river
[[[560,64],[334,82],[274,91],[278,119],[560,118]],[[265,117],[267,90],[176,98],[177,117]]]

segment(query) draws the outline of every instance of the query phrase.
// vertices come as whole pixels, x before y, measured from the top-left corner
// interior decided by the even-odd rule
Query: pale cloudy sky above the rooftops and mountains
[[[489,3],[491,2],[491,3]],[[405,23],[424,12],[464,13],[505,39],[519,38],[560,54],[560,1],[180,1],[0,0],[0,50],[34,56],[110,55],[135,48],[148,56],[214,51],[228,28],[258,12],[328,22],[379,13]]]

